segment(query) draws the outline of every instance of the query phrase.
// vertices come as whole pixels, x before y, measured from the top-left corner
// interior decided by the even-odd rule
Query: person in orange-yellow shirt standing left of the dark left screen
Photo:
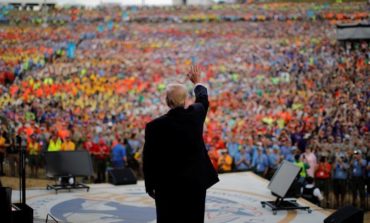
[[[37,178],[40,167],[40,151],[41,146],[37,141],[36,135],[31,135],[31,139],[27,144],[28,160],[31,169],[31,177]]]

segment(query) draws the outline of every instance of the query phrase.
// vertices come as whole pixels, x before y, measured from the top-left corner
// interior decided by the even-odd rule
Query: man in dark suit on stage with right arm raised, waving
[[[155,199],[158,223],[204,222],[206,190],[219,181],[203,141],[207,88],[199,84],[198,67],[188,78],[195,84],[195,103],[186,105],[186,87],[169,85],[170,111],[145,129],[145,188]]]

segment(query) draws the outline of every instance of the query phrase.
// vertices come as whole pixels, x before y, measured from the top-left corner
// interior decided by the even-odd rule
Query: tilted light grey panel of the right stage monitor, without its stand
[[[301,168],[291,162],[283,161],[272,177],[268,188],[279,197],[285,197]]]

